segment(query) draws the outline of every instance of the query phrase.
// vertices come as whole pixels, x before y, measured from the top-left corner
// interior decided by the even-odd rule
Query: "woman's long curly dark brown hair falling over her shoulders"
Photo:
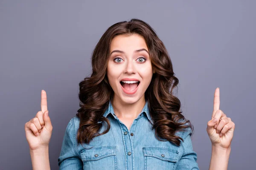
[[[193,125],[181,114],[180,100],[173,95],[178,79],[172,68],[172,61],[163,42],[158,38],[154,29],[139,19],[122,21],[109,27],[102,35],[92,54],[92,74],[79,83],[79,99],[81,107],[76,113],[80,118],[78,143],[90,143],[96,136],[108,133],[110,123],[103,113],[113,100],[113,89],[108,82],[106,70],[110,57],[111,40],[121,34],[139,34],[144,37],[151,57],[152,68],[155,73],[151,83],[145,91],[145,100],[148,101],[152,117],[152,129],[158,140],[166,139],[178,146],[183,139],[175,136],[177,131],[191,128]],[[182,120],[182,121],[180,121]],[[102,123],[107,123],[103,133],[98,133]],[[186,124],[186,125],[185,125]],[[160,139],[162,138],[162,139]],[[180,140],[179,140],[180,139]]]

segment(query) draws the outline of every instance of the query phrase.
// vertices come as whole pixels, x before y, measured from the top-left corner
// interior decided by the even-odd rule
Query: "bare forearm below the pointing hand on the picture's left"
[[[49,147],[40,150],[30,150],[33,170],[50,170]]]

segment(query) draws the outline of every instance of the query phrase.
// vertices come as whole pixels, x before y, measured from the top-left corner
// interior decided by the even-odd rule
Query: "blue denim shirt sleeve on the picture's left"
[[[58,157],[59,170],[81,170],[83,169],[83,162],[79,154],[76,152],[76,136],[73,118],[67,125],[62,146],[61,153]]]

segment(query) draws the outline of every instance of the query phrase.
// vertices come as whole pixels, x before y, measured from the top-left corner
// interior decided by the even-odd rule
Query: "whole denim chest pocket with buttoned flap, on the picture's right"
[[[145,170],[174,170],[179,152],[164,147],[143,147]]]

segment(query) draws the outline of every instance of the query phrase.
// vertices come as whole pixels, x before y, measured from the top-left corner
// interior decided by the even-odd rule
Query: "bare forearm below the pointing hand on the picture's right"
[[[212,146],[209,170],[227,170],[231,147],[228,149]]]

